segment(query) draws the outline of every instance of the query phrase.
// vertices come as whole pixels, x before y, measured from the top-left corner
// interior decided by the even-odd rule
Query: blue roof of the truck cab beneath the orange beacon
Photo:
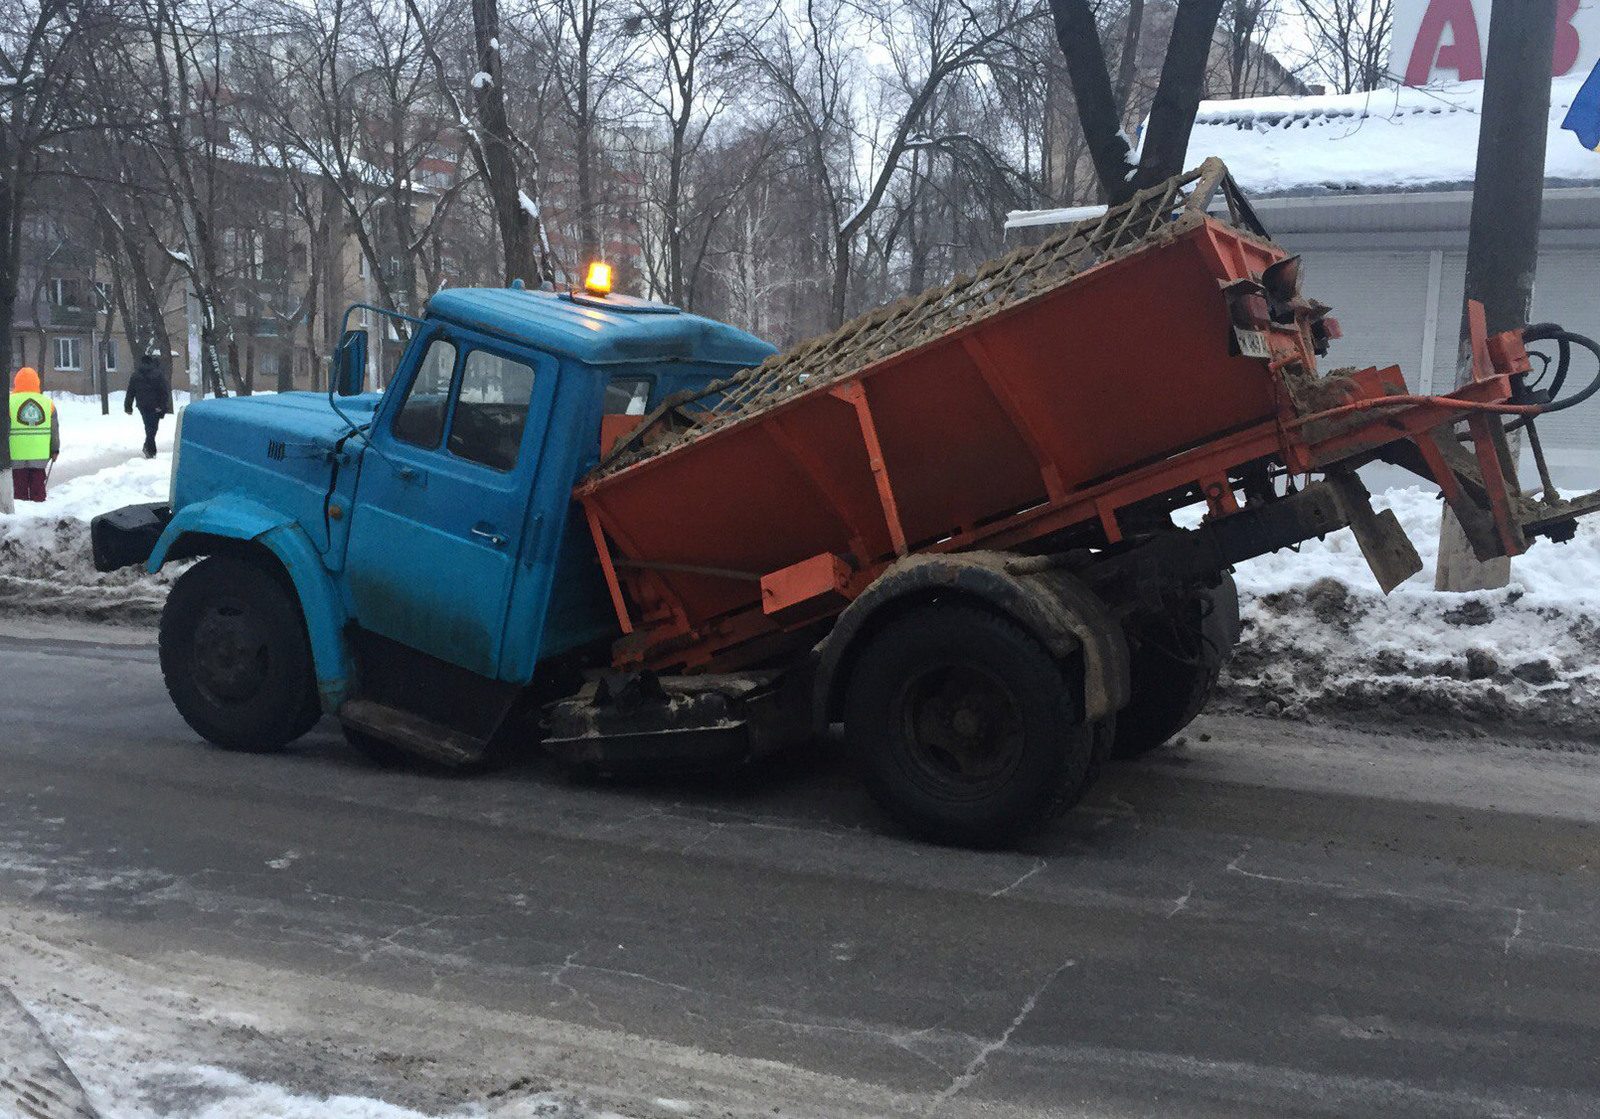
[[[451,288],[429,299],[427,309],[435,319],[589,365],[710,362],[742,368],[776,352],[738,327],[626,295]]]

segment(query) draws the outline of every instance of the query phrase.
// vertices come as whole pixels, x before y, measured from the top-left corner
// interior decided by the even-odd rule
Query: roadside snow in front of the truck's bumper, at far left
[[[184,392],[173,395],[179,408],[189,402]],[[16,512],[0,514],[0,610],[150,623],[171,576],[96,572],[88,522],[126,504],[166,499],[176,423],[162,421],[158,453],[147,459],[144,424],[138,413],[123,413],[122,392],[110,394],[109,415],[101,415],[99,397],[50,397],[61,416],[61,458],[45,501],[18,501]]]

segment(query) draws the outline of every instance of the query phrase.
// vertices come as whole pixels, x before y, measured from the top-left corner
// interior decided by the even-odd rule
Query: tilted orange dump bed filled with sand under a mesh
[[[1280,450],[1285,373],[1314,373],[1326,309],[1301,301],[1251,335],[1267,357],[1240,352],[1224,288],[1288,255],[1242,227],[1221,165],[1160,191],[776,355],[709,413],[651,416],[576,490],[619,661],[770,647],[909,552],[1072,523],[1115,541],[1118,507],[1174,487],[1214,479],[1227,512],[1226,471]]]

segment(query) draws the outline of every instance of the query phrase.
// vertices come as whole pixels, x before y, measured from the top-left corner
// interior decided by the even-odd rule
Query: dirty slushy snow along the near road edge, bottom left
[[[5,869],[22,874],[26,882],[26,866]],[[131,876],[152,877],[139,871]],[[0,1119],[734,1114],[661,1095],[651,1090],[648,1073],[573,1087],[526,1073],[491,1077],[485,1085],[466,1069],[453,1073],[448,1060],[445,1068],[424,1061],[414,1077],[406,1073],[406,1052],[448,1053],[453,1039],[470,1049],[474,1037],[483,1037],[501,1053],[507,1045],[502,1033],[512,1039],[510,1052],[502,1053],[510,1069],[536,1066],[526,1053],[517,1060],[515,1037],[611,1052],[614,1060],[626,1060],[637,1044],[622,1034],[550,1020],[507,1020],[426,994],[395,996],[336,977],[302,977],[203,953],[165,951],[160,945],[104,948],[72,916],[0,901]],[[646,1053],[637,1057],[642,1068],[648,1066]],[[389,1089],[370,1087],[371,1095],[317,1089],[363,1079]],[[453,1103],[414,1108],[379,1095],[410,1097],[413,1103],[443,1097]]]

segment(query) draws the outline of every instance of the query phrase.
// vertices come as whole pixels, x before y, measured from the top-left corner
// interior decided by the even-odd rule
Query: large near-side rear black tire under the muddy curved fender
[[[966,605],[890,621],[856,660],[845,743],[874,800],[936,844],[1002,847],[1069,804],[1093,732],[1061,664],[1016,623]]]

